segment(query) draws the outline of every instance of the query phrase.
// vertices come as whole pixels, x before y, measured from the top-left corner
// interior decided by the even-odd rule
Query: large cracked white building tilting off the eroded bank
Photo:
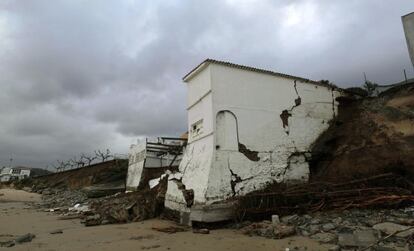
[[[165,201],[183,223],[227,219],[234,196],[308,180],[309,150],[337,113],[338,89],[211,59],[183,80],[188,145]]]

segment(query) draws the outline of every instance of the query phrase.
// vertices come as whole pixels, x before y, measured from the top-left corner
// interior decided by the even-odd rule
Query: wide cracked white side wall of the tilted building
[[[328,128],[339,93],[300,81],[295,88],[292,79],[221,65],[211,65],[211,75],[214,114],[231,111],[237,118],[239,143],[257,151],[260,160],[251,161],[238,150],[215,150],[206,201],[243,195],[271,182],[306,181],[309,168],[304,156],[292,155],[308,152]],[[296,106],[298,98],[301,103]],[[285,128],[283,110],[291,114]]]

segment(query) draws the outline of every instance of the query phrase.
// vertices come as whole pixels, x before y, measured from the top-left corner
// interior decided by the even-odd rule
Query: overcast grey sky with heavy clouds
[[[205,58],[340,87],[414,76],[412,0],[0,1],[0,165],[45,166],[186,130]]]

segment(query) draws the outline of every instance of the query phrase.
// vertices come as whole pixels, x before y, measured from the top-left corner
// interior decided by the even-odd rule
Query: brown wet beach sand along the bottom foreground
[[[40,195],[11,189],[0,189],[0,239],[26,233],[36,235],[31,242],[0,250],[283,250],[295,246],[307,250],[328,250],[331,245],[319,245],[304,237],[283,240],[249,237],[238,230],[211,230],[210,234],[190,231],[161,233],[153,227],[177,226],[173,222],[153,219],[119,225],[85,227],[79,219],[58,220],[58,215],[34,209],[30,203],[40,201]],[[62,234],[50,234],[61,229]]]

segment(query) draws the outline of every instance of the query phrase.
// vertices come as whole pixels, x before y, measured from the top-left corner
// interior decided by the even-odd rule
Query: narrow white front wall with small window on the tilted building
[[[182,194],[177,193],[177,180],[185,184],[186,188],[194,190],[194,200],[197,203],[205,202],[204,195],[214,145],[212,100],[210,66],[208,66],[188,84],[188,145],[179,166],[180,172],[175,176],[170,175],[166,207],[183,211],[185,201]],[[202,133],[194,137],[191,133],[191,126],[198,121],[203,121]]]

